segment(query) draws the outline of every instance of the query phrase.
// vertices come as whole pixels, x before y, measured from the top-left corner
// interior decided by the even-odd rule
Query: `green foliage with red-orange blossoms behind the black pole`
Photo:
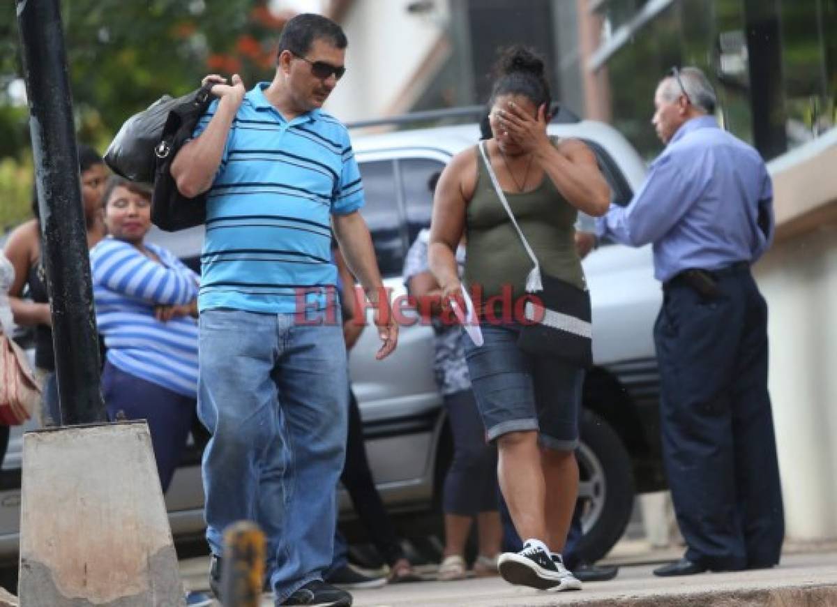
[[[163,94],[197,88],[208,73],[237,71],[248,86],[270,80],[284,20],[271,15],[266,2],[62,0],[79,140],[104,151],[131,114]],[[31,167],[28,111],[8,95],[8,85],[22,76],[15,6],[0,2],[0,226],[17,219],[7,207],[28,209],[30,195],[29,185],[20,195],[6,182]]]

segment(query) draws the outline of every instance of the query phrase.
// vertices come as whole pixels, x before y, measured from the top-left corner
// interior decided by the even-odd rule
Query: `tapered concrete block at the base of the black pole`
[[[27,433],[21,495],[21,604],[183,604],[144,421]]]

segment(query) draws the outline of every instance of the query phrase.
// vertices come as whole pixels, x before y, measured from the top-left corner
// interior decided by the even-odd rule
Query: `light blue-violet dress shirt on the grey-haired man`
[[[712,116],[687,121],[626,207],[596,221],[599,238],[654,243],[657,280],[754,262],[773,239],[773,184],[758,152]]]

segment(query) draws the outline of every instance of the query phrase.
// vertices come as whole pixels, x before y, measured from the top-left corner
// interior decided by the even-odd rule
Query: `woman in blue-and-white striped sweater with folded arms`
[[[166,491],[197,398],[198,275],[144,242],[147,188],[110,177],[103,200],[110,235],[90,251],[96,322],[107,347],[102,393],[111,420],[147,420]]]

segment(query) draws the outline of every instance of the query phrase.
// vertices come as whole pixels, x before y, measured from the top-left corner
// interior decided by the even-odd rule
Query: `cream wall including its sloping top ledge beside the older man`
[[[755,267],[788,538],[837,538],[837,130],[770,163],[779,233]]]

